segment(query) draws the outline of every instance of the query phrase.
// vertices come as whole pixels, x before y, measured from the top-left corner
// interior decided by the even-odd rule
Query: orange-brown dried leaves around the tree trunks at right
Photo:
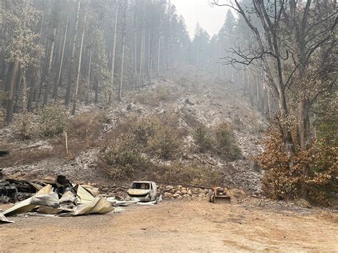
[[[309,188],[309,197],[313,202],[329,197],[330,192],[337,192],[337,148],[313,140],[307,150],[297,148],[295,125],[292,125],[295,155],[290,155],[285,148],[280,129],[272,125],[268,139],[262,144],[265,151],[256,157],[265,173],[262,190],[265,195],[275,199],[290,199],[299,196],[302,185]],[[308,175],[304,174],[308,168]],[[320,194],[319,194],[320,192]]]

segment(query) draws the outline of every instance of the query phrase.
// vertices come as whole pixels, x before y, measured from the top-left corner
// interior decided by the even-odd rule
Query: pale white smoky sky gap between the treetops
[[[227,7],[212,6],[210,0],[171,0],[176,6],[178,15],[182,15],[189,31],[190,38],[193,38],[195,26],[205,29],[210,36],[218,33],[225,21]]]

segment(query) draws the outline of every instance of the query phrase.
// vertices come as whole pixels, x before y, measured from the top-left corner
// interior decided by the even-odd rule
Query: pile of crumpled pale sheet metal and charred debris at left
[[[96,196],[98,188],[88,185],[74,185],[63,176],[48,177],[37,181],[6,180],[1,182],[4,189],[5,187],[11,189],[10,193],[1,195],[1,200],[13,199],[15,202],[21,193],[20,190],[31,190],[26,187],[27,184],[36,190],[36,193],[31,194],[31,197],[0,213],[1,222],[11,222],[6,217],[24,212],[38,212],[40,215],[52,216],[77,216],[106,214],[114,210],[111,202],[108,202],[105,197]]]

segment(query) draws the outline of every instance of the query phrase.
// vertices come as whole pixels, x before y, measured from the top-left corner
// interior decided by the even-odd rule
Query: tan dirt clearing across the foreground
[[[11,220],[1,224],[0,252],[338,251],[338,215],[320,210],[174,201],[120,214]]]

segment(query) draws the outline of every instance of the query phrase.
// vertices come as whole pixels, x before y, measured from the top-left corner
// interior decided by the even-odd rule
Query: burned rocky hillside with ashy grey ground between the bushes
[[[154,114],[175,115],[178,128],[185,131],[181,162],[197,160],[205,170],[217,171],[225,186],[242,188],[260,195],[262,172],[252,157],[262,149],[259,143],[267,123],[260,113],[242,99],[241,91],[236,91],[225,80],[193,68],[165,71],[152,82],[138,91],[126,90],[123,100],[111,104],[107,109],[102,105],[85,105],[83,101],[78,107],[78,115],[71,120],[78,122],[81,118],[76,117],[86,115],[81,120],[86,123],[89,120],[99,127],[91,129],[95,132],[91,139],[78,138],[76,142],[74,139],[69,143],[68,155],[65,155],[64,136],[21,140],[13,128],[1,129],[1,149],[11,151],[11,155],[0,158],[3,174],[18,179],[61,174],[76,182],[92,182],[103,186],[123,184],[128,180],[116,180],[102,169],[98,158],[101,143],[109,142],[119,125],[130,115],[136,118]],[[104,114],[104,117],[96,117],[98,114]],[[220,122],[233,126],[235,142],[242,150],[239,159],[227,160],[215,153],[196,151],[193,130],[201,123],[212,127]],[[78,128],[79,131],[80,126],[72,125],[73,130]],[[88,132],[86,129],[81,131]],[[155,165],[170,165],[173,162],[170,159],[149,158]],[[130,180],[145,179],[147,174],[143,172],[142,175],[135,174],[135,177],[130,177]]]

